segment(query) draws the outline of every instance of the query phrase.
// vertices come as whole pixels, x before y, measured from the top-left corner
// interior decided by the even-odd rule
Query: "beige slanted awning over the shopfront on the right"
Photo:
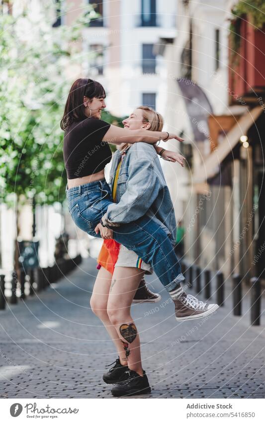
[[[204,182],[207,178],[211,178],[220,171],[221,162],[236,146],[240,137],[247,134],[249,128],[255,123],[262,111],[262,107],[257,106],[241,116],[237,124],[228,132],[221,145],[208,155],[203,163],[195,169],[195,183]]]

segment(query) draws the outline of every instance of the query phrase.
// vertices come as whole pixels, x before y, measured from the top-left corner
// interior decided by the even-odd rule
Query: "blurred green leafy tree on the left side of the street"
[[[54,28],[58,4],[42,3],[34,14],[27,6],[0,14],[0,186],[7,204],[65,199],[60,121],[72,82],[67,71],[80,66],[82,31],[94,11],[87,5],[71,27]]]

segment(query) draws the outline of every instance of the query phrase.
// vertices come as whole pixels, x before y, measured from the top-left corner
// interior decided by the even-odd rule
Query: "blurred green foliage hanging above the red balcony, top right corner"
[[[265,1],[264,0],[240,0],[232,9],[233,17],[230,19],[230,39],[232,60],[239,52],[241,45],[241,21],[248,19],[256,29],[262,29],[265,25]]]

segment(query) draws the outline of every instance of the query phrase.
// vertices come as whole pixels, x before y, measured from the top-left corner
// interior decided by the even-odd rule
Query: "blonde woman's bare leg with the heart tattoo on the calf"
[[[109,319],[116,328],[123,347],[123,358],[127,358],[129,369],[140,376],[143,376],[140,339],[130,308],[143,275],[144,271],[141,269],[115,267],[107,303]]]

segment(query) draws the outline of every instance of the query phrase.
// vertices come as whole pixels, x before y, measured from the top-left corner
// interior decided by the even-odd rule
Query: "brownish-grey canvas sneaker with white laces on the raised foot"
[[[207,304],[198,300],[196,297],[183,292],[178,298],[174,299],[176,320],[199,319],[213,313],[219,305]]]

